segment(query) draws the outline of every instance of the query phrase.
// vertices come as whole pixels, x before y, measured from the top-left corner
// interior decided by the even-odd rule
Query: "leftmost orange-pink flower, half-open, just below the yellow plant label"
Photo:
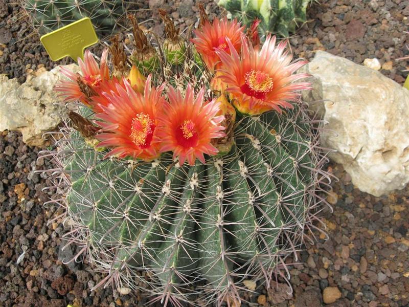
[[[107,60],[108,49],[102,52],[100,65],[98,65],[91,52],[86,50],[84,61],[78,58],[81,75],[62,68],[61,73],[70,80],[60,81],[55,86],[55,90],[61,92],[61,96],[65,96],[65,101],[79,100],[90,106],[90,97],[98,95],[101,82],[109,79]]]

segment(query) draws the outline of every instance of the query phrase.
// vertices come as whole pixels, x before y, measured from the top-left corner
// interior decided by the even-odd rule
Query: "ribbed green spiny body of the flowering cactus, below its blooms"
[[[63,150],[66,201],[92,258],[113,280],[150,271],[141,280],[162,302],[188,300],[191,284],[206,280],[220,303],[247,275],[270,274],[289,238],[298,244],[314,197],[319,162],[299,111],[239,116],[231,152],[194,166],[167,153],[152,162],[103,159],[73,131]]]

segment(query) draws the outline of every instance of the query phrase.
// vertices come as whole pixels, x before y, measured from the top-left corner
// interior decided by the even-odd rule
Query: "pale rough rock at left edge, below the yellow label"
[[[76,64],[67,68],[78,72]],[[19,84],[17,79],[0,75],[0,131],[17,130],[30,146],[44,144],[42,135],[54,129],[60,122],[55,114],[63,110],[62,98],[53,91],[63,77],[57,67],[49,72],[38,71]],[[60,102],[60,103],[59,103]]]

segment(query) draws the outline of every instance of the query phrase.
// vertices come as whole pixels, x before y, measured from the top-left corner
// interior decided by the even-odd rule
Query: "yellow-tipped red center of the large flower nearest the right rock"
[[[245,74],[245,79],[241,90],[248,96],[264,99],[266,94],[272,90],[272,78],[266,73],[251,70]]]

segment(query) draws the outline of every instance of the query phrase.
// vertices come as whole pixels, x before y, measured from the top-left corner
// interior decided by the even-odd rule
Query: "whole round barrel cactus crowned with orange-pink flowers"
[[[82,75],[65,71],[71,80],[57,86],[82,103],[46,154],[59,166],[76,257],[106,273],[96,287],[143,291],[164,305],[239,305],[243,280],[285,278],[286,257],[297,258],[315,227],[325,155],[299,99],[305,75],[293,74],[304,62],[291,61],[284,43],[268,37],[253,48],[228,21],[195,33],[183,38],[181,63],[158,38],[161,69],[144,77],[142,93],[132,85],[140,73],[107,76],[107,53],[99,67],[87,52]],[[199,54],[219,60],[198,64],[195,46],[214,41],[220,48]]]

